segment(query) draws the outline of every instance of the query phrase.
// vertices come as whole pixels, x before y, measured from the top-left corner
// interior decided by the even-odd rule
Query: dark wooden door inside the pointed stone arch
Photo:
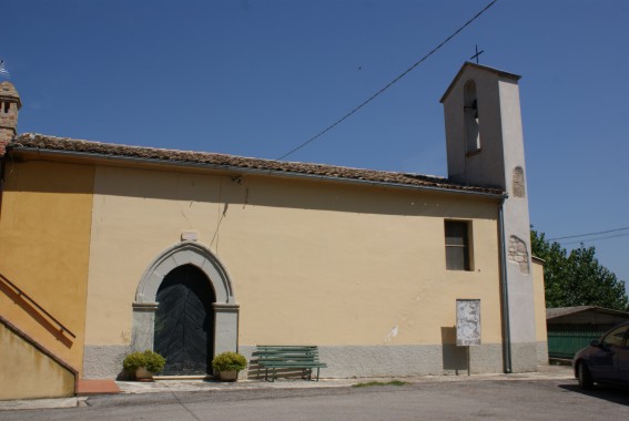
[[[173,269],[158,290],[154,350],[166,359],[163,374],[212,373],[215,301],[210,281],[192,265]]]

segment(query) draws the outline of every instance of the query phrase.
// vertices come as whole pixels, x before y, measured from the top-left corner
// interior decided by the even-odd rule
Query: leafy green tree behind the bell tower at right
[[[628,309],[625,283],[601,266],[595,247],[568,251],[544,233],[530,230],[532,255],[545,260],[546,306],[599,306],[616,310]]]

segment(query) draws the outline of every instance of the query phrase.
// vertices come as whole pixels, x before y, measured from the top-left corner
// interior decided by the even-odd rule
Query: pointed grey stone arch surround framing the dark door
[[[189,267],[209,281],[213,299],[213,355],[237,350],[239,305],[231,279],[221,261],[207,248],[195,242],[182,242],[164,250],[146,268],[135,292],[133,302],[132,347],[135,350],[153,349],[155,338],[155,311],[158,295],[168,275],[181,267]],[[168,285],[168,284],[164,284]],[[206,300],[206,299],[205,299]],[[205,302],[207,306],[210,304]],[[209,356],[207,359],[212,358]]]

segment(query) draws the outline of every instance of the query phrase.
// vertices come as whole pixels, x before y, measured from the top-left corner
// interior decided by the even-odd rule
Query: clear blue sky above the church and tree
[[[19,132],[277,158],[489,0],[2,2]],[[530,217],[548,238],[629,226],[629,2],[499,0],[287,160],[446,175],[439,99],[475,44],[521,74]],[[629,230],[586,240],[629,280]],[[566,246],[578,247],[566,243]]]

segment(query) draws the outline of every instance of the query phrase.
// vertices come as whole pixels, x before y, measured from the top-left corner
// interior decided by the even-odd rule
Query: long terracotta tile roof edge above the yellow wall
[[[143,146],[126,146],[111,143],[99,143],[90,141],[79,141],[67,137],[53,137],[41,134],[22,134],[16,137],[10,144],[7,145],[7,152],[11,151],[27,151],[27,150],[43,150],[43,151],[59,151],[71,152],[79,154],[88,154],[106,157],[120,158],[142,158],[153,162],[164,163],[191,163],[207,165],[211,167],[221,167],[225,170],[239,168],[256,170],[268,172],[272,174],[295,174],[295,175],[312,175],[324,176],[341,179],[355,179],[383,184],[394,184],[400,186],[417,186],[439,189],[452,189],[463,192],[475,192],[500,195],[503,192],[499,188],[480,187],[480,186],[464,186],[453,183],[447,178],[395,173],[386,171],[351,168],[345,166],[334,166],[325,164],[301,163],[301,162],[285,162],[273,160],[261,160],[252,157],[242,157],[226,154],[215,154],[205,152],[191,152],[191,151],[176,151],[176,150],[162,150],[154,147]]]

